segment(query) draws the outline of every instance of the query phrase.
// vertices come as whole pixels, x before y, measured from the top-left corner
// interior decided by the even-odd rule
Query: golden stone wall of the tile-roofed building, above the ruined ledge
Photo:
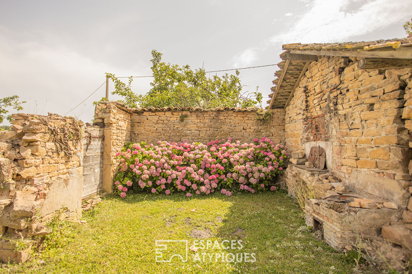
[[[364,190],[369,176],[396,180],[395,192],[385,186],[370,192],[406,207],[411,135],[401,118],[406,86],[401,78],[408,72],[358,70],[356,59],[340,57],[312,62],[286,107],[286,146],[305,153],[308,141],[331,142],[331,170],[345,183]],[[312,120],[322,126],[309,129]],[[368,175],[361,180],[360,173]]]

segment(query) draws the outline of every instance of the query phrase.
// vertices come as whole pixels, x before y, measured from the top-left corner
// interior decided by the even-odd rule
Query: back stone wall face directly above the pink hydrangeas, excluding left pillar
[[[180,121],[181,116],[187,115]],[[182,117],[183,117],[182,116]],[[256,121],[256,111],[143,111],[131,115],[131,140],[202,142],[232,137],[241,143],[255,138],[284,142],[284,110],[273,109],[272,117]]]

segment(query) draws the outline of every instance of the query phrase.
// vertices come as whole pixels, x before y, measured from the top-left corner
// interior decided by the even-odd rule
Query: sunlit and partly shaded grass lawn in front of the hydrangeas
[[[337,274],[352,273],[354,267],[346,255],[309,232],[297,202],[283,192],[231,197],[214,193],[193,198],[183,194],[135,194],[125,199],[109,196],[84,213],[83,220],[86,225],[54,221],[54,232],[47,237],[48,246],[42,253],[0,272]],[[155,249],[161,248],[155,246],[155,240],[188,240],[189,249],[193,229],[210,232],[204,249],[189,250],[187,262],[177,256],[171,262],[155,261]],[[206,240],[211,240],[208,249]],[[223,242],[229,249],[218,244],[223,240],[229,241]],[[235,240],[235,249],[230,248],[231,240]],[[168,243],[163,257],[175,252],[185,255],[185,243]],[[240,257],[242,253],[242,262],[227,262],[225,258],[222,262],[222,252],[224,257],[227,253]],[[255,253],[255,262],[245,262],[245,253]],[[200,261],[194,261],[196,254]]]

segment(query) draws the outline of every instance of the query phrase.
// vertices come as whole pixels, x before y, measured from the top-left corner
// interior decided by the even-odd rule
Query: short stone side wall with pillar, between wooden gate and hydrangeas
[[[112,192],[113,177],[119,169],[116,153],[131,141],[131,114],[117,105],[118,102],[101,102],[95,110],[94,124],[104,128],[103,190],[108,193]]]

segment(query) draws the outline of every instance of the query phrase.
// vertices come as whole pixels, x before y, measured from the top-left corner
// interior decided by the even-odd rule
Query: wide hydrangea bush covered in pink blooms
[[[116,154],[120,170],[115,176],[117,193],[185,192],[192,195],[231,190],[276,190],[274,176],[288,157],[283,145],[263,137],[253,144],[222,139],[208,144],[158,141],[157,145],[129,143]]]

